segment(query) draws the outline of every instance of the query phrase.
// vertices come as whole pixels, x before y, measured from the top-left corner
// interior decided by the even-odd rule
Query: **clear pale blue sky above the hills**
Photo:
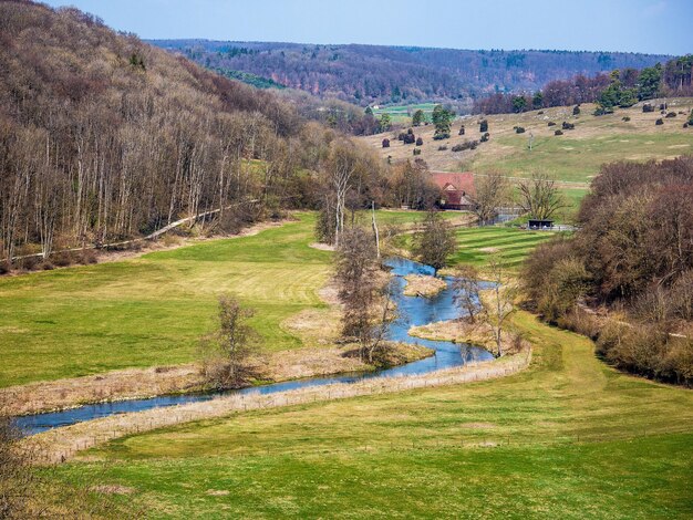
[[[693,0],[44,0],[144,39],[693,52]]]

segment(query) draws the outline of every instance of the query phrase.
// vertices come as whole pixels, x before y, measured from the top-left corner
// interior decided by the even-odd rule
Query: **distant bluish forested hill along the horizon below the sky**
[[[642,69],[670,56],[623,52],[469,51],[379,45],[155,40],[213,70],[254,74],[322,96],[366,103],[467,100],[536,91],[552,80]],[[269,83],[266,83],[269,86]]]

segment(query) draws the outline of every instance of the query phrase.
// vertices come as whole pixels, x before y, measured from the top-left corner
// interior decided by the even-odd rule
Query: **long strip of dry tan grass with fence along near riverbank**
[[[384,395],[416,388],[473,383],[505,377],[526,368],[531,350],[492,362],[475,362],[414,376],[380,377],[356,383],[335,383],[276,394],[234,394],[185,405],[120,414],[54,428],[28,437],[25,446],[40,454],[44,464],[62,462],[77,451],[132,434],[200,419],[224,417],[234,413],[327,402],[368,395]]]

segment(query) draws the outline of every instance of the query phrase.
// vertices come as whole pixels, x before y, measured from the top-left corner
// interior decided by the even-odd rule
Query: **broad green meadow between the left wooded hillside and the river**
[[[304,309],[327,312],[317,291],[331,253],[309,247],[314,216],[298,217],[251,237],[0,279],[0,387],[192,362],[221,292],[257,311],[266,349],[303,346],[282,323]],[[377,212],[382,225],[421,219]]]

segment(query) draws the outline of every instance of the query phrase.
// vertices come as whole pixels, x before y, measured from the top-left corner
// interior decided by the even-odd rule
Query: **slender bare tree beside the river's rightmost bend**
[[[514,311],[513,302],[517,295],[517,287],[508,283],[507,263],[503,254],[495,253],[488,258],[486,273],[493,282],[490,298],[485,305],[484,318],[496,342],[496,356],[503,355],[503,337],[506,322]]]

